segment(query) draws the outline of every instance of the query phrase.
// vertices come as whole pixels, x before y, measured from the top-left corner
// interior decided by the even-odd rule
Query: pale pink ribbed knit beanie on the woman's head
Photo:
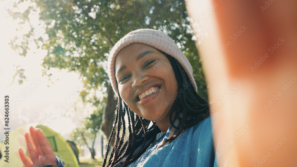
[[[162,31],[153,30],[153,29],[138,29],[135,31],[131,31],[123,38],[121,38],[111,49],[108,57],[108,77],[113,87],[114,92],[118,95],[118,90],[116,88],[116,74],[115,74],[115,60],[116,55],[122,50],[124,47],[128,46],[132,43],[142,43],[152,46],[156,49],[159,49],[168,55],[174,57],[178,63],[186,71],[191,84],[197,90],[197,86],[193,77],[193,70],[190,62],[184,55],[184,53],[177,47],[173,39],[171,39],[168,35],[163,33]]]

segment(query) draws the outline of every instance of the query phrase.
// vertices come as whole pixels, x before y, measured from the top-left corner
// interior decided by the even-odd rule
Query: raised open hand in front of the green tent
[[[31,159],[23,152],[22,148],[18,149],[24,167],[58,165],[53,149],[42,130],[31,126],[30,134],[31,136],[28,132],[25,133],[25,138]]]

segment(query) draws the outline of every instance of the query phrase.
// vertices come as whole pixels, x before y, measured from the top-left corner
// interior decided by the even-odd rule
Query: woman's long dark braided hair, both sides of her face
[[[184,71],[183,67],[175,58],[164,52],[162,53],[168,58],[171,63],[178,83],[179,91],[176,95],[176,100],[174,101],[173,106],[170,109],[169,117],[170,125],[172,125],[173,128],[178,129],[178,131],[175,135],[171,136],[169,139],[166,139],[160,147],[176,139],[183,132],[184,129],[196,125],[201,120],[209,116],[208,103],[197,94],[194,87],[189,82],[189,77]],[[110,150],[110,141],[113,136],[115,137],[115,142],[107,166],[129,166],[129,164],[137,160],[146,151],[151,143],[154,143],[156,141],[157,133],[161,132],[155,122],[146,120],[142,117],[139,117],[137,114],[134,114],[134,112],[129,109],[127,104],[122,101],[119,91],[118,97],[119,98],[114,126],[108,139],[108,145],[102,167],[106,165],[108,152]],[[177,117],[181,122],[181,127],[176,127],[175,125],[173,125],[172,116],[173,112],[175,111],[180,111],[184,115],[183,117],[179,117],[177,114]],[[127,139],[124,141],[126,131],[124,116],[126,114],[128,117],[129,134]],[[191,119],[186,120],[187,116],[190,116]],[[153,125],[149,127],[149,124],[151,122]],[[155,129],[155,133],[151,138],[151,141],[149,141],[150,139],[147,139],[147,133],[153,128]],[[119,134],[121,129],[122,133],[120,137]],[[143,144],[141,145],[139,151],[134,153],[136,149],[136,140],[140,139],[140,137],[142,136],[144,136]],[[145,144],[146,141],[149,141],[149,144]]]

